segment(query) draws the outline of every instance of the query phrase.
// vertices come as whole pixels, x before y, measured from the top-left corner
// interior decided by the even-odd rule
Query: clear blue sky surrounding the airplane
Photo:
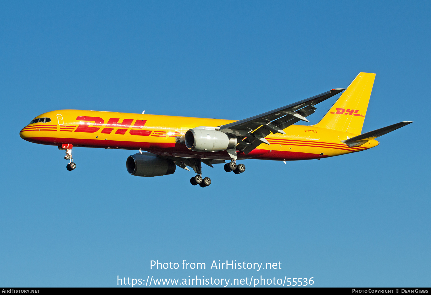
[[[430,286],[428,1],[3,2],[0,285],[117,286],[120,277],[314,277],[314,286]],[[244,119],[377,73],[369,151],[246,160],[246,173],[131,176],[134,151],[32,144],[58,109]],[[338,96],[337,96],[338,97]],[[322,118],[337,99],[309,116]],[[181,170],[181,171],[180,171]],[[207,269],[150,270],[150,260]],[[213,260],[278,262],[228,270]]]

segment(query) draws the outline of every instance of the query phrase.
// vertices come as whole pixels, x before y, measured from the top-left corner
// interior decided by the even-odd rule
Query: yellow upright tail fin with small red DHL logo
[[[361,134],[376,74],[360,72],[316,127]]]

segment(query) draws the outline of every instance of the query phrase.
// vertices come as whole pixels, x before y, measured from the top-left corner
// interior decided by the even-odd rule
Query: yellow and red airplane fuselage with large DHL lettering
[[[23,139],[56,146],[66,143],[75,147],[142,150],[174,157],[231,159],[226,151],[190,151],[178,138],[188,129],[221,126],[235,120],[90,110],[57,110],[41,114],[35,119],[37,118],[50,118],[51,121],[28,124],[19,133]],[[286,135],[277,133],[267,136],[270,145],[262,143],[249,154],[238,151],[238,158],[320,159],[363,151],[379,144],[376,140],[370,140],[359,147],[350,148],[340,141],[358,134],[315,126],[291,125],[284,132]]]

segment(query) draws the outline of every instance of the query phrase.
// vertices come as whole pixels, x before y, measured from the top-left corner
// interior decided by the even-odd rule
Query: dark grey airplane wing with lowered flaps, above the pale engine
[[[253,116],[244,120],[220,126],[219,131],[229,133],[238,137],[237,149],[245,154],[250,153],[260,144],[269,144],[265,137],[272,133],[286,134],[283,129],[303,120],[309,122],[306,116],[315,111],[316,104],[333,97],[346,89],[337,88],[326,91],[322,94],[300,100],[294,104],[289,104],[278,109]],[[239,138],[242,138],[240,140]]]

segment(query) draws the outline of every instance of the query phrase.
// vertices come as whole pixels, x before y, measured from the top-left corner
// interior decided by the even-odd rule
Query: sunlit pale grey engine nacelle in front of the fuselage
[[[198,127],[187,130],[184,135],[186,147],[191,151],[200,152],[225,151],[236,148],[238,143],[236,137],[214,129],[214,127]]]

